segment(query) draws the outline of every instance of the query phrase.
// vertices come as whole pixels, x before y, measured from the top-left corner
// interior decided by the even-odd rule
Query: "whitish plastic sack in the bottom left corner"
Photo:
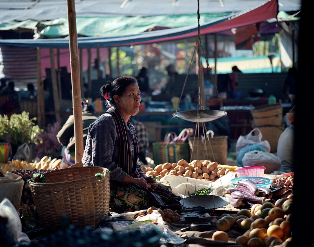
[[[8,198],[3,198],[0,203],[0,218],[1,246],[15,246],[23,242],[30,244],[30,238],[22,232],[19,213]]]

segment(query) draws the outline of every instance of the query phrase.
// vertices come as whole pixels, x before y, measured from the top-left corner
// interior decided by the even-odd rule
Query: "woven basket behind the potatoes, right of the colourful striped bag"
[[[210,133],[209,130],[207,133]],[[209,140],[208,140],[209,139]],[[227,164],[228,155],[228,136],[212,136],[209,138],[189,137],[191,160],[210,160],[217,161],[218,164]]]

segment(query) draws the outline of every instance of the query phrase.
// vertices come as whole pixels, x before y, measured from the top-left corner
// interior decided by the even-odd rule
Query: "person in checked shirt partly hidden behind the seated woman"
[[[144,165],[147,165],[146,150],[149,146],[148,131],[143,123],[136,121],[134,118],[131,118],[131,123],[134,126],[136,137],[138,139],[138,159]]]

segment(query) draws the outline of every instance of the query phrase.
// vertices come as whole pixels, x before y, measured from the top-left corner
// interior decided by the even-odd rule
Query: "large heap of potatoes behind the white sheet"
[[[225,176],[231,170],[228,168],[218,168],[218,162],[210,160],[193,160],[190,164],[186,160],[179,160],[177,163],[160,164],[155,168],[146,167],[143,169],[146,176],[155,176],[158,179],[166,175],[176,175],[183,177],[192,177],[196,179],[216,181]]]

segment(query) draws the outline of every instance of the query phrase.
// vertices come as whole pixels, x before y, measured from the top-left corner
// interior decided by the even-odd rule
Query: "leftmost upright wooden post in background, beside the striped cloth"
[[[44,83],[41,80],[41,49],[37,48],[37,123],[40,128],[45,127],[45,99]]]

